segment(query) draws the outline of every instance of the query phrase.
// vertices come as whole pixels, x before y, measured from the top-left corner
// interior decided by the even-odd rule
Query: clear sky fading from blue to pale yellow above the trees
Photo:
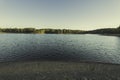
[[[1,28],[93,30],[120,25],[120,0],[0,0]]]

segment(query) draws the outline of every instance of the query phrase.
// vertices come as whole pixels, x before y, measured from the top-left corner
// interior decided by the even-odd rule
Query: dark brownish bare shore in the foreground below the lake
[[[0,80],[120,80],[120,65],[91,62],[0,63]]]

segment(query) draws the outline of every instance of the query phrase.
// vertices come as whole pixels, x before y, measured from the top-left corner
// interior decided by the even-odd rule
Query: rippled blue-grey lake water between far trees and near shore
[[[0,34],[0,61],[85,60],[120,63],[120,37]]]

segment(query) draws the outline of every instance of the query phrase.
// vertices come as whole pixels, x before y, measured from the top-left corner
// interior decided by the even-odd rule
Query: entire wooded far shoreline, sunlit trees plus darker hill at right
[[[0,28],[3,33],[40,33],[40,34],[120,34],[120,26],[117,28],[103,28],[91,31],[70,29],[35,29],[35,28]]]

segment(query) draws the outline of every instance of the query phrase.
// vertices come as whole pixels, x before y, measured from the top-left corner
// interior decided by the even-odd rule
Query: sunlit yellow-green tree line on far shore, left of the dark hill
[[[4,33],[41,33],[41,34],[80,34],[82,30],[70,29],[35,29],[35,28],[3,28],[0,32]]]

